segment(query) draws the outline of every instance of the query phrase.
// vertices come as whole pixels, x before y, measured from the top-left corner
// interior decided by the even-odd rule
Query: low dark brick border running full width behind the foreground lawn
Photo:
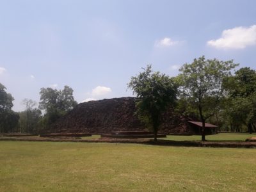
[[[158,140],[156,143],[154,140],[148,139],[92,139],[92,140],[77,140],[77,138],[4,138],[0,137],[0,141],[54,141],[54,142],[84,142],[84,143],[138,143],[147,145],[164,145],[164,146],[180,146],[180,147],[228,147],[228,148],[256,148],[256,142],[212,142],[212,141],[170,141],[170,140]]]

